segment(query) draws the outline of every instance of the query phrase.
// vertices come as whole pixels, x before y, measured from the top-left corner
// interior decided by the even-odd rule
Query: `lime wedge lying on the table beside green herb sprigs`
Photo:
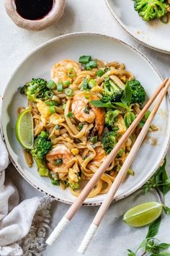
[[[144,202],[128,210],[123,221],[129,226],[146,226],[161,215],[162,208],[159,202]]]

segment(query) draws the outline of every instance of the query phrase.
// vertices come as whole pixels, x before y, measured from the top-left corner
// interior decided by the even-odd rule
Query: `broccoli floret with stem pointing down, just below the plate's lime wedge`
[[[37,170],[40,176],[48,176],[48,168],[45,165],[44,156],[51,149],[52,143],[48,140],[48,135],[41,132],[35,139],[34,147],[30,151],[35,162],[37,163]]]

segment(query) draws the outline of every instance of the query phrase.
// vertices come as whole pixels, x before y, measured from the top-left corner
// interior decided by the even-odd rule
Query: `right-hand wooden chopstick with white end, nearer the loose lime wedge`
[[[86,249],[88,248],[91,240],[93,239],[93,236],[96,233],[99,227],[99,224],[102,222],[104,214],[107,212],[107,209],[109,208],[109,205],[111,204],[117,192],[117,189],[120,187],[122,180],[124,179],[125,175],[128,173],[128,168],[130,168],[130,165],[133,163],[135,155],[138,153],[140,145],[142,144],[144,138],[146,137],[148,129],[151,126],[151,122],[153,121],[153,118],[156,115],[156,112],[158,111],[159,106],[161,105],[161,101],[163,100],[167,90],[169,89],[169,85],[170,85],[170,79],[168,80],[168,82],[166,82],[166,85],[162,90],[156,105],[153,107],[153,110],[151,111],[151,114],[148,116],[148,119],[144,124],[143,129],[140,131],[140,135],[138,135],[137,140],[135,140],[133,148],[130,150],[128,157],[125,159],[125,162],[123,163],[122,168],[117,174],[115,181],[110,187],[109,192],[107,193],[106,197],[104,198],[104,201],[102,202],[102,205],[100,206],[96,216],[94,217],[94,220],[89,226],[89,229],[86,232],[86,235],[84,236],[84,239],[81,242],[81,245],[78,249],[78,252],[80,252],[81,254],[84,254],[86,252]]]

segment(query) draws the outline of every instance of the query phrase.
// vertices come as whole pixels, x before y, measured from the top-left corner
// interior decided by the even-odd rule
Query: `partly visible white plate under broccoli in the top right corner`
[[[170,54],[170,22],[164,24],[160,20],[145,22],[135,12],[133,0],[105,0],[107,7],[118,23],[133,38],[156,51]]]

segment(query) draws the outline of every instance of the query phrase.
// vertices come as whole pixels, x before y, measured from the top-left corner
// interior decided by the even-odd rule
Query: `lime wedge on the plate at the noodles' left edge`
[[[15,126],[15,133],[22,147],[32,149],[34,144],[34,124],[31,108],[27,108],[19,114]]]

